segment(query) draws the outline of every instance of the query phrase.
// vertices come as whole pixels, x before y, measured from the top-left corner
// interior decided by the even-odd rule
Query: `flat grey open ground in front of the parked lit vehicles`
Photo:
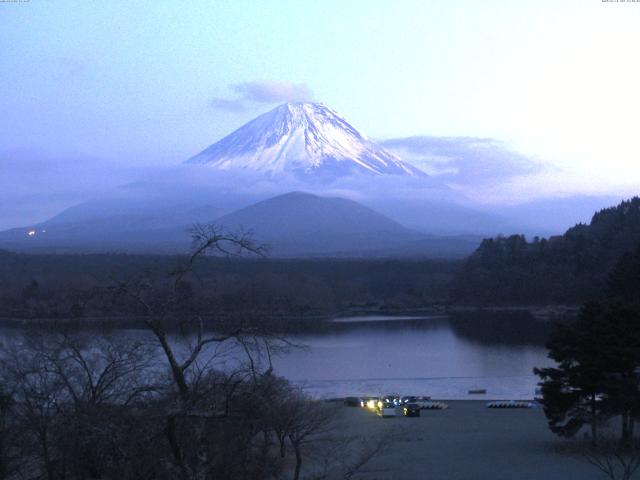
[[[359,478],[430,480],[602,479],[580,455],[566,453],[570,440],[552,434],[542,408],[493,409],[482,401],[451,401],[420,417],[382,418],[366,408],[344,407],[354,434],[388,448]]]

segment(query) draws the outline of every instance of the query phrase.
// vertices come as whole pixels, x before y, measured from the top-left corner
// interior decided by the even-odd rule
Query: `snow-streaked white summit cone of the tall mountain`
[[[214,143],[186,163],[270,176],[332,180],[344,175],[426,174],[358,132],[322,103],[285,103]]]

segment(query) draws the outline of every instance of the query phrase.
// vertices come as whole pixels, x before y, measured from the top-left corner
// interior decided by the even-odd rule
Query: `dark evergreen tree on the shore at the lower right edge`
[[[639,311],[619,302],[588,304],[547,347],[557,367],[534,371],[551,430],[572,436],[588,424],[595,443],[597,425],[620,416],[621,440],[628,443],[640,416]]]

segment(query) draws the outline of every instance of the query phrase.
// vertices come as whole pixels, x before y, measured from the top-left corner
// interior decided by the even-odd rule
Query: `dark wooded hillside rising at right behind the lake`
[[[453,286],[461,302],[580,304],[602,296],[607,274],[640,244],[640,198],[597,212],[562,236],[485,239]]]

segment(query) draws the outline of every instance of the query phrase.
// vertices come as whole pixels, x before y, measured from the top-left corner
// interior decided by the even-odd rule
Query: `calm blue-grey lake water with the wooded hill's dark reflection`
[[[550,363],[544,348],[550,328],[527,313],[350,319],[327,333],[296,335],[309,348],[278,358],[275,366],[323,397],[532,398],[533,367]],[[467,394],[477,388],[487,394]]]

